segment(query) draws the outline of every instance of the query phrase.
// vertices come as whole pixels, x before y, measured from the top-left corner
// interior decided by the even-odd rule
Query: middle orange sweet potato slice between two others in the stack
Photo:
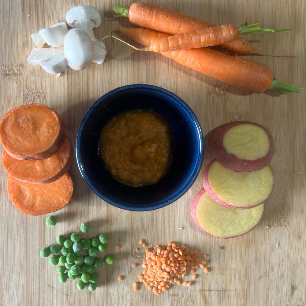
[[[61,147],[46,159],[14,159],[6,150],[3,150],[2,166],[10,176],[19,181],[48,184],[68,171],[72,158],[72,143],[66,136]]]

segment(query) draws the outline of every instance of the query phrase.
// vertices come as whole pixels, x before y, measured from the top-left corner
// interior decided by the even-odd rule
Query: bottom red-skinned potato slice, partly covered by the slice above
[[[263,211],[264,203],[250,209],[223,207],[204,188],[191,204],[191,215],[196,225],[218,238],[233,238],[248,233],[259,224]]]

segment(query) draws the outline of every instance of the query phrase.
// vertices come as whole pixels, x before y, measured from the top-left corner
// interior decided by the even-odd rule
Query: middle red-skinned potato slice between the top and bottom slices
[[[270,166],[250,172],[236,172],[211,160],[203,171],[203,187],[218,204],[228,208],[251,208],[270,196],[274,175]]]

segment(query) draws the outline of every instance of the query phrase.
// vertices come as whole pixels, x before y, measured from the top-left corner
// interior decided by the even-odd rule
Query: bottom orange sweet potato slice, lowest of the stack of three
[[[22,212],[38,216],[65,207],[73,193],[73,179],[67,172],[49,184],[32,184],[9,176],[7,191],[13,204]]]

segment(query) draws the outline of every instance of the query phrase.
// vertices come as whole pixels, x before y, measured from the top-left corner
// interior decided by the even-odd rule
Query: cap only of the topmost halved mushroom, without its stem
[[[77,22],[86,22],[88,20],[91,21],[92,28],[99,27],[101,23],[101,15],[93,6],[76,6],[69,9],[66,14],[66,21],[73,28]]]

